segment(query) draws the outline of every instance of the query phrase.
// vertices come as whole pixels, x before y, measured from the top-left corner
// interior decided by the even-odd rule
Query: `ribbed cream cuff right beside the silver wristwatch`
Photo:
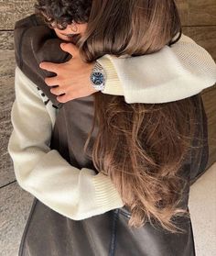
[[[117,72],[114,69],[113,62],[108,59],[106,55],[97,60],[102,66],[106,73],[107,79],[103,94],[105,95],[124,95],[124,90]]]

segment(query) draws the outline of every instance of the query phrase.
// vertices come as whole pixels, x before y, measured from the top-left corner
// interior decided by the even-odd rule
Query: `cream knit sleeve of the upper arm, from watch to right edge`
[[[216,83],[215,61],[184,35],[172,47],[153,54],[133,58],[104,55],[98,61],[108,77],[103,93],[124,95],[129,104],[176,101]]]

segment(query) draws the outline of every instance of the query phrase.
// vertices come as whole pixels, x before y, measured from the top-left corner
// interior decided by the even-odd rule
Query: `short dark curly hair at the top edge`
[[[88,22],[92,0],[38,0],[35,5],[36,14],[53,28],[65,29],[72,21]]]

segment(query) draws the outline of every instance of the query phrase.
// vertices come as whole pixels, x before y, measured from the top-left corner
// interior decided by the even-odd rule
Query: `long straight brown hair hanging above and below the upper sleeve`
[[[83,60],[90,62],[105,54],[153,53],[180,35],[173,0],[93,0],[88,28],[78,46]],[[194,132],[191,99],[129,105],[123,96],[97,93],[94,109],[92,131],[97,125],[98,133],[92,161],[98,172],[111,177],[130,209],[129,226],[140,227],[150,221],[171,232],[179,231],[172,220],[188,216],[187,209],[180,206],[185,186],[180,170]]]

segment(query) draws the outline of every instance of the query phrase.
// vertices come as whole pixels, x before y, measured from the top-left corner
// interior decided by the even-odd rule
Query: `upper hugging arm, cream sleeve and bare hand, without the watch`
[[[63,50],[73,55],[73,48],[67,44]],[[75,56],[61,64],[43,63],[46,70],[57,72],[46,83],[59,84],[51,91],[59,102],[91,94],[91,71],[80,59]],[[152,54],[132,58],[106,54],[97,61],[107,74],[103,94],[124,95],[128,104],[177,101],[197,95],[216,82],[216,64],[211,55],[184,35],[171,47]]]

